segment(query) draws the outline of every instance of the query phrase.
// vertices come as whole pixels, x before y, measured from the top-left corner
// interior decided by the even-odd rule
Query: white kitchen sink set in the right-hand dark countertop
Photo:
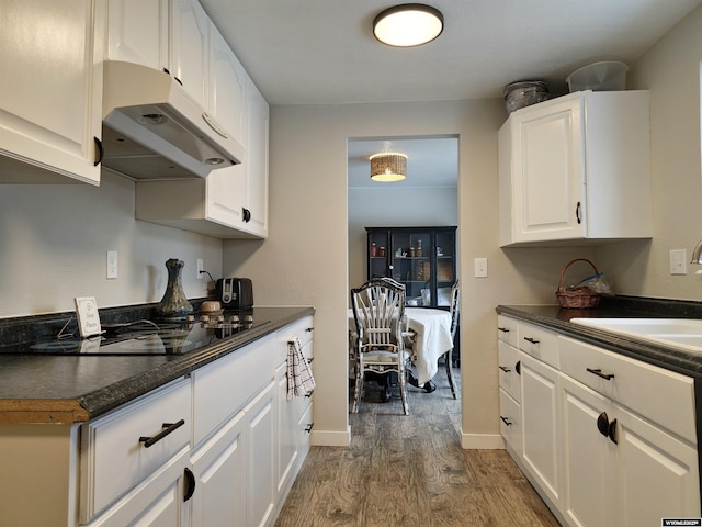
[[[702,354],[702,319],[570,318],[570,322]]]

